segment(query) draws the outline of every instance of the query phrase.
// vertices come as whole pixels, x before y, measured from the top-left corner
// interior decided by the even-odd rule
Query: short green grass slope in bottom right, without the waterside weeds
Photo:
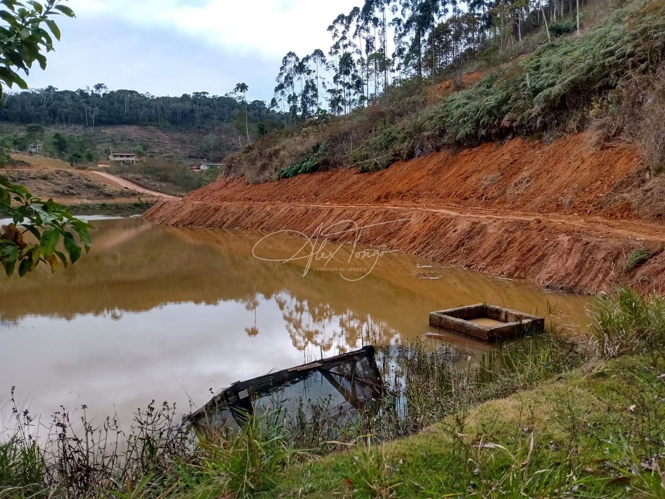
[[[652,456],[664,370],[656,351],[576,369],[415,436],[291,468],[265,497],[663,497]]]

